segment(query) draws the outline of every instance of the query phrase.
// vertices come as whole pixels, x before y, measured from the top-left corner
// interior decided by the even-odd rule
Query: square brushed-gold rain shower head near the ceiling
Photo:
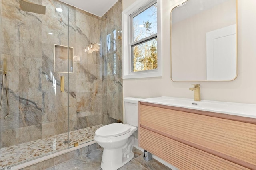
[[[45,14],[45,6],[34,4],[27,0],[20,0],[20,8],[22,11],[34,12],[38,14]]]

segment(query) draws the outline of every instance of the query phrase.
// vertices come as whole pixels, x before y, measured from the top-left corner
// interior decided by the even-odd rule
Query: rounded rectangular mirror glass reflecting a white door
[[[236,0],[188,0],[173,8],[172,80],[234,80],[236,37]]]

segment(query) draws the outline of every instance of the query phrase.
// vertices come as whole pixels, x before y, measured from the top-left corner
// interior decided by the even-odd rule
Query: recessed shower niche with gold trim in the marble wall
[[[54,72],[73,73],[73,47],[54,44]]]

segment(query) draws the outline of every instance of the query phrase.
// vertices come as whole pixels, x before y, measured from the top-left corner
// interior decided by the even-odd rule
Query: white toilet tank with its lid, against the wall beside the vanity
[[[126,122],[132,126],[138,126],[138,100],[140,98],[124,98],[124,110]]]

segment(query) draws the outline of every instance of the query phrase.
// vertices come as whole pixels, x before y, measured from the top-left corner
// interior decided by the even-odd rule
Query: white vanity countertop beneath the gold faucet
[[[173,98],[167,96],[140,99],[139,101],[256,118],[256,104],[218,102],[211,100],[194,101],[193,99]]]

